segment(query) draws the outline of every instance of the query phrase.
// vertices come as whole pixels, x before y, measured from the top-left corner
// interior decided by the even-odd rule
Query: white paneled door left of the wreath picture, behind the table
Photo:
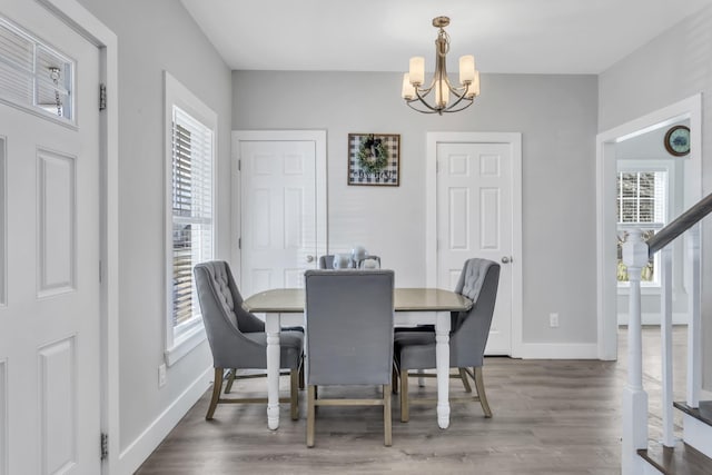
[[[237,144],[244,296],[304,287],[304,271],[326,248],[324,144],[310,132],[255,133],[238,135]]]

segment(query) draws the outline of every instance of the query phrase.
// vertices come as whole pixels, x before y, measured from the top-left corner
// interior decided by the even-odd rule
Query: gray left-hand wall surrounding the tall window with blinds
[[[174,0],[80,0],[118,37],[120,446],[211,364],[204,343],[168,368],[165,342],[164,80],[168,70],[218,115],[218,255],[229,256],[230,71]],[[116,85],[108,85],[115,87]]]

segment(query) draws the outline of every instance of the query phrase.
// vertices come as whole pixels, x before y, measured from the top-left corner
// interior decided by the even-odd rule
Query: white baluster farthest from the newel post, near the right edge
[[[700,224],[686,234],[691,267],[690,321],[688,323],[688,406],[700,407],[702,388],[702,317],[700,313]]]

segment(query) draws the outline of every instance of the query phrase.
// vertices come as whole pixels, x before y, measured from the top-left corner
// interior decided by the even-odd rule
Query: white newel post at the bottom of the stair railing
[[[643,390],[641,334],[641,271],[647,264],[647,244],[640,229],[629,230],[623,245],[623,264],[631,283],[627,315],[627,383],[623,390],[622,473],[642,473],[637,451],[647,448],[647,393]]]

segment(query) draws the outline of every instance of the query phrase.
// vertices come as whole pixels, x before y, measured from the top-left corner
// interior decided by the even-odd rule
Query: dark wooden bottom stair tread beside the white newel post
[[[712,458],[682,441],[674,447],[651,444],[647,451],[637,451],[637,455],[665,475],[712,474]]]

